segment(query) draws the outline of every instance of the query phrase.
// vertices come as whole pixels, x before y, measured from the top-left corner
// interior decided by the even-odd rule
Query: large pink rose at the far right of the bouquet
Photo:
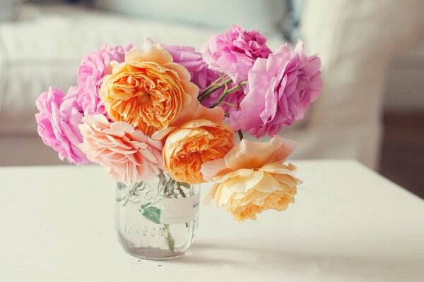
[[[268,59],[257,59],[240,110],[230,116],[232,125],[259,138],[303,118],[322,88],[320,65],[317,56],[305,55],[303,42],[294,50],[285,44]]]

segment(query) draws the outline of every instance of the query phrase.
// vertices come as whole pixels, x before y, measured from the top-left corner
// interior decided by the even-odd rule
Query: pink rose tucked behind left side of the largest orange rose
[[[125,53],[132,48],[110,47],[103,44],[102,48],[96,52],[91,52],[85,56],[78,67],[78,99],[85,114],[102,114],[107,116],[105,106],[99,97],[100,86],[103,78],[107,74],[107,67],[111,61],[122,63],[125,61]]]

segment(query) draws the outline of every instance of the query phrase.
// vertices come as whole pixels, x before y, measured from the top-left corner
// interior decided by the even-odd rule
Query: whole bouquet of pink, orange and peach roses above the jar
[[[272,52],[237,25],[193,47],[110,47],[88,54],[67,94],[37,99],[37,131],[60,159],[100,164],[128,185],[165,171],[183,183],[213,181],[214,200],[237,221],[294,202],[300,180],[284,164],[295,142],[278,136],[322,87],[320,61],[298,42]],[[235,142],[238,132],[240,143]],[[242,131],[269,142],[243,139]]]

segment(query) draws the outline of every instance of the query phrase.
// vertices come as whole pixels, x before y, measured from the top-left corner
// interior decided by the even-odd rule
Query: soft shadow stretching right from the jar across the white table
[[[200,243],[194,244],[187,255],[176,259],[175,262],[210,264],[216,267],[216,271],[220,271],[223,266],[245,267],[249,271],[278,271],[281,272],[282,278],[284,274],[292,272],[334,279],[355,278],[355,281],[424,281],[423,257],[401,258],[395,254],[377,257],[368,253],[358,256],[350,253],[331,253],[331,250],[293,252],[293,249],[266,250],[254,246],[247,248]],[[279,266],[278,269],[275,269],[276,265]],[[417,277],[417,274],[420,277]]]

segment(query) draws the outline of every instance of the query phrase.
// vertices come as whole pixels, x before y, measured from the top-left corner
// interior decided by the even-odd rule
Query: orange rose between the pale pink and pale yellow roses
[[[170,127],[153,134],[153,139],[165,140],[164,168],[172,178],[192,184],[205,182],[201,165],[223,158],[234,146],[234,130],[223,118],[222,108],[208,109],[196,101],[184,107]]]

